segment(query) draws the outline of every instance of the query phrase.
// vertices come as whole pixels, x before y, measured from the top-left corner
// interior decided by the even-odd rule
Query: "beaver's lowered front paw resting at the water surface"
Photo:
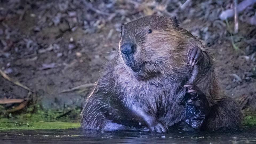
[[[150,124],[148,127],[145,127],[142,131],[150,131],[155,133],[167,133],[168,127],[159,121],[155,121]]]

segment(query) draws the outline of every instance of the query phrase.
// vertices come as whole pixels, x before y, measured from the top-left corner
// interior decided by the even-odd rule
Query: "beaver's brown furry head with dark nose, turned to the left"
[[[183,61],[177,59],[184,39],[175,18],[146,16],[122,24],[120,55],[135,75],[168,75]]]

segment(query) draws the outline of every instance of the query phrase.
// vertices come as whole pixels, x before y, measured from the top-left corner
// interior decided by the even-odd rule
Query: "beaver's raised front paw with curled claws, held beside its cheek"
[[[195,46],[192,49],[190,49],[187,53],[187,61],[191,66],[197,65],[199,59],[202,57],[202,50]]]

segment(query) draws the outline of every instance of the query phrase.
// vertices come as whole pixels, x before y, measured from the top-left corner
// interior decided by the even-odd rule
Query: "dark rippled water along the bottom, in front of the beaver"
[[[232,133],[172,131],[168,134],[82,129],[12,130],[0,131],[0,143],[256,143],[256,127],[243,127]]]

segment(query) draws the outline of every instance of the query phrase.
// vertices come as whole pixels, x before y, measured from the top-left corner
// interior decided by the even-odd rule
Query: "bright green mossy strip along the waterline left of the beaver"
[[[0,130],[69,129],[80,127],[80,108],[43,110],[39,105],[6,113],[0,107]]]

